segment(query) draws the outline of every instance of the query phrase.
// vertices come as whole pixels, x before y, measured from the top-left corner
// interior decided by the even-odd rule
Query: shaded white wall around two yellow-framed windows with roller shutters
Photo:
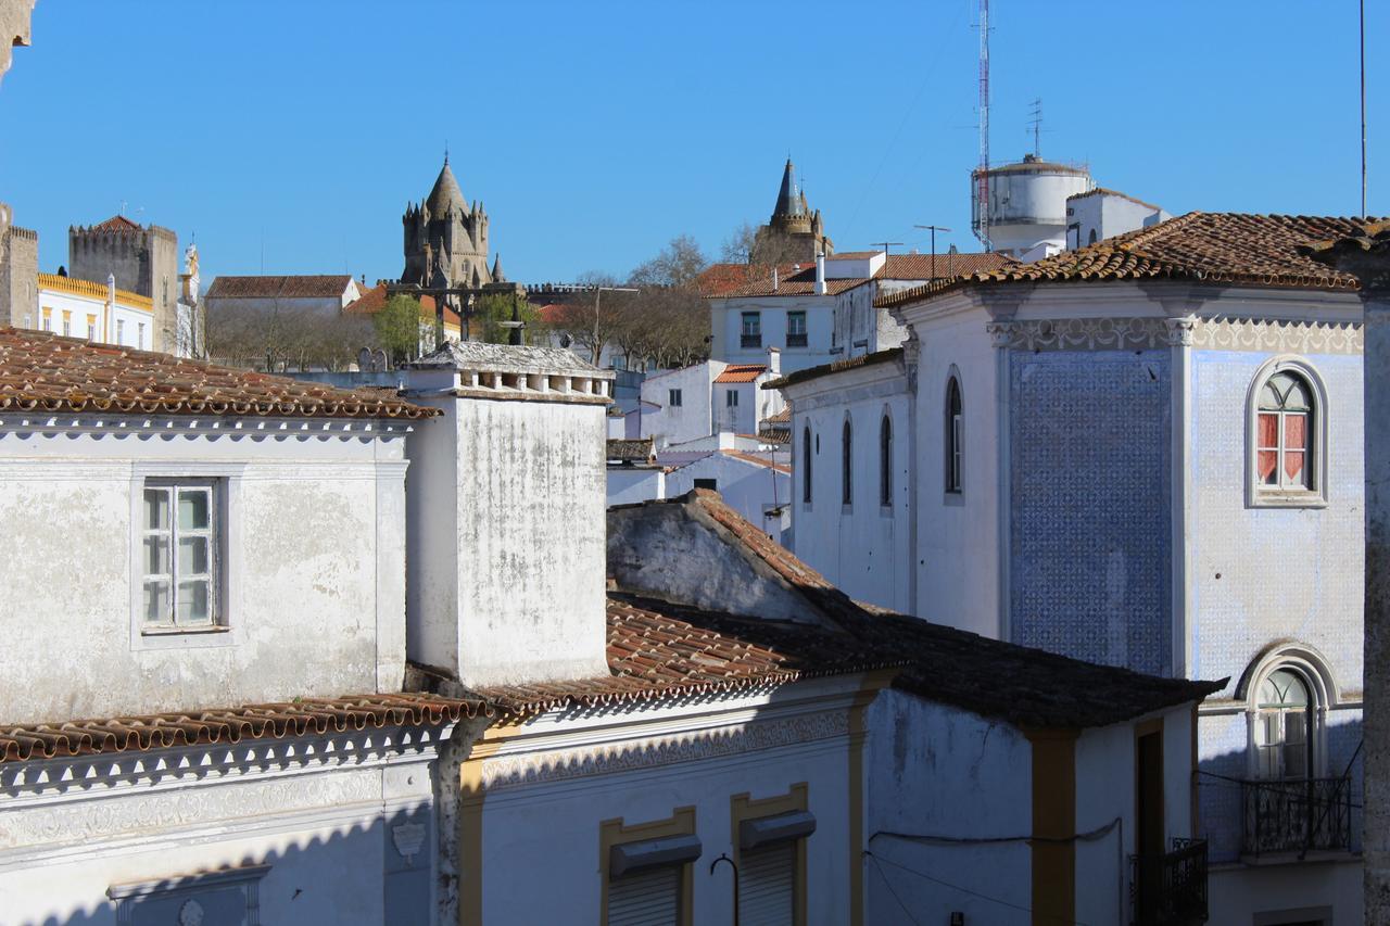
[[[720,865],[710,875],[709,866],[734,854],[730,798],[777,797],[806,783],[816,816],[806,843],[809,922],[848,923],[849,866],[858,855],[848,829],[848,699],[777,708],[817,688],[824,697],[852,684],[827,683],[612,715],[582,723],[584,745],[575,745],[574,724],[566,741],[567,724],[542,719],[537,740],[503,745],[482,772],[482,922],[598,923],[600,823],[664,820],[676,808],[694,806],[702,843],[691,865],[694,923],[724,926],[733,909],[730,870]],[[612,748],[617,742],[621,749]],[[543,890],[537,890],[542,858]]]

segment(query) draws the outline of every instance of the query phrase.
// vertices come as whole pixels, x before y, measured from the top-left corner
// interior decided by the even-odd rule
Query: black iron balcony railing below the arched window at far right
[[[1351,780],[1244,781],[1245,855],[1351,851]]]

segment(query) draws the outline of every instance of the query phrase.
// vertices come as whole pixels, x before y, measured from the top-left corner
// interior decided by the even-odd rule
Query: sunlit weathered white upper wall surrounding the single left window
[[[0,416],[0,716],[63,722],[400,684],[399,437],[321,420],[207,431],[188,417],[111,432],[125,417],[63,432]],[[224,480],[227,633],[139,633],[139,495],[146,477],[172,476]]]

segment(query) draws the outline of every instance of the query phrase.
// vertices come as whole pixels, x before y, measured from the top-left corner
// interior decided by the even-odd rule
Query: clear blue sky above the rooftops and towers
[[[1390,4],[1368,3],[1372,214],[1390,213]],[[507,275],[626,273],[766,221],[788,153],[841,250],[974,250],[976,0],[873,4],[39,0],[0,85],[0,200],[121,209],[218,273],[402,270],[445,142]],[[992,156],[1087,161],[1193,209],[1354,214],[1355,0],[992,4]],[[263,257],[264,254],[264,257]]]

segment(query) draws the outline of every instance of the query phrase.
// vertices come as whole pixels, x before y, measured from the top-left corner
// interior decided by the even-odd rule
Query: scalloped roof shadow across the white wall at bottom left
[[[375,840],[382,841],[379,850],[374,850]],[[431,922],[435,904],[434,848],[430,808],[421,805],[370,825],[342,826],[289,847],[246,854],[214,869],[189,870],[171,855],[163,862],[150,862],[149,880],[122,873],[99,904],[65,912],[22,913],[24,919],[18,920],[6,913],[0,918],[15,926],[423,925]],[[111,858],[121,862],[128,856],[113,854]],[[374,869],[378,858],[382,859],[379,886],[374,870],[363,870],[364,862]],[[50,904],[60,902],[54,884],[61,884],[63,876],[56,875],[49,884],[43,882],[44,869],[58,866],[42,865],[33,872],[33,890]]]

